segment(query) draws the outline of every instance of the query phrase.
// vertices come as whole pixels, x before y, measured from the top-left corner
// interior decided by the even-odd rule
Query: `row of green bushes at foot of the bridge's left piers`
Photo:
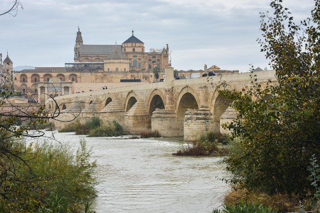
[[[79,120],[71,122],[66,127],[59,129],[59,132],[76,132],[76,135],[88,135],[88,137],[111,137],[122,136],[125,132],[122,126],[116,121],[108,121],[107,124],[102,125],[100,118],[93,117],[84,124]]]

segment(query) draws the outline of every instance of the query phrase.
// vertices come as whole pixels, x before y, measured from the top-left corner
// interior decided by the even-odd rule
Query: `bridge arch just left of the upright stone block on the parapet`
[[[151,117],[152,112],[155,111],[155,109],[165,109],[165,103],[164,103],[165,97],[161,91],[158,89],[153,90],[150,94],[149,101],[148,101],[148,124],[147,128],[151,129]]]

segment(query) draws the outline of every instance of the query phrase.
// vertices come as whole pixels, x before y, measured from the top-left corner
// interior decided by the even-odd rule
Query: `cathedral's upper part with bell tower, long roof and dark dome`
[[[151,71],[154,67],[164,70],[169,66],[169,46],[150,49],[145,52],[145,44],[133,35],[122,45],[83,44],[78,28],[74,48],[75,63],[103,63],[104,72],[128,72],[132,70]]]

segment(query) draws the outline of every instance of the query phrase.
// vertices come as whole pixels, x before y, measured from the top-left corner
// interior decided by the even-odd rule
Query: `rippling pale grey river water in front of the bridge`
[[[48,135],[49,133],[46,133]],[[99,212],[212,212],[230,189],[218,157],[172,155],[174,138],[88,138],[55,132],[55,138],[76,147],[84,138],[97,160]]]

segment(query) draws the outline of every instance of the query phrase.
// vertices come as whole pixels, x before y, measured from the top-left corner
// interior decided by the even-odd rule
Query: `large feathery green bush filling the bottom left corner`
[[[11,145],[19,154],[1,156],[1,212],[80,212],[97,196],[97,165],[89,161],[91,150],[84,140],[75,155],[60,143],[26,147],[23,140],[8,141]],[[6,173],[7,167],[15,173]]]

